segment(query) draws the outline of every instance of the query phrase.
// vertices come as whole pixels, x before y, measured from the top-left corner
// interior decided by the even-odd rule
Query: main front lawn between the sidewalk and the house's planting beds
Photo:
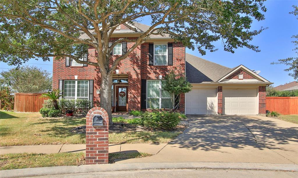
[[[0,146],[85,144],[85,134],[70,132],[86,124],[85,118],[43,118],[39,113],[0,111]],[[168,143],[177,131],[125,131],[109,134],[109,143]]]

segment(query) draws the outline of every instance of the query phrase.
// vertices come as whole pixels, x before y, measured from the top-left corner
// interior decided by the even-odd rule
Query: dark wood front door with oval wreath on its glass
[[[116,111],[127,112],[127,86],[116,86]]]

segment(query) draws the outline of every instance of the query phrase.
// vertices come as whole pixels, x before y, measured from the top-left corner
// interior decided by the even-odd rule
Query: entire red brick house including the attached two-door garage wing
[[[149,26],[135,23],[121,25],[111,42],[126,37],[134,39]],[[125,53],[134,43],[117,44],[112,58]],[[97,52],[90,47],[82,60],[96,62]],[[256,72],[239,65],[228,68],[186,54],[181,42],[168,35],[151,35],[121,61],[113,75],[114,112],[171,108],[171,96],[162,89],[167,73],[176,69],[192,84],[191,92],[181,95],[179,112],[186,114],[257,115],[266,113],[266,85],[272,84]],[[99,69],[66,58],[53,61],[53,88],[66,99],[100,100]]]

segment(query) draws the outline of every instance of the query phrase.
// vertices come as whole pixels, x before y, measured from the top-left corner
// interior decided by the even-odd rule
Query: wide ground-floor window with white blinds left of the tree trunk
[[[89,98],[89,80],[64,80],[65,99]]]

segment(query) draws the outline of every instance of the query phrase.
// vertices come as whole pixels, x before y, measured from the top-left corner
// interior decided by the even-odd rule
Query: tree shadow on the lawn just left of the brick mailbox
[[[85,139],[86,134],[73,133],[70,130],[76,126],[86,125],[86,118],[80,117],[59,117],[59,118],[43,118],[41,122],[33,123],[36,124],[50,124],[46,126],[46,129],[41,130],[41,132],[46,132],[48,136],[59,136],[61,138],[67,138],[73,135],[79,135],[80,139]]]

